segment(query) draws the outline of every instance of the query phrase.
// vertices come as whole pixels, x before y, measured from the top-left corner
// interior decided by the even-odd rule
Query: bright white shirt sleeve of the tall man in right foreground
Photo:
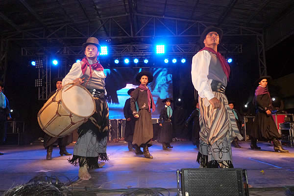
[[[211,55],[208,51],[202,50],[194,55],[192,59],[192,83],[194,88],[198,91],[201,98],[207,98],[211,100],[214,98],[214,94],[211,90],[211,79],[208,79],[209,64]]]

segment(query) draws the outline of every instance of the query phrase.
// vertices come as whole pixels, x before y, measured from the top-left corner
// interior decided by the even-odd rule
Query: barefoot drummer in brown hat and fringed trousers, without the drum
[[[105,74],[98,62],[100,45],[98,39],[90,37],[83,44],[86,57],[79,63],[74,63],[65,76],[62,85],[74,83],[86,87],[93,95],[96,111],[90,119],[78,128],[78,140],[74,145],[73,158],[69,160],[74,166],[79,165],[78,176],[89,180],[88,169],[100,168],[105,165],[99,160],[108,160],[106,141],[109,131],[109,111],[105,101]]]

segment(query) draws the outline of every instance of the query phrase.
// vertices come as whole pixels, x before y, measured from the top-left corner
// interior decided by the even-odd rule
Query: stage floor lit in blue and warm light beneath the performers
[[[73,145],[68,146],[68,152],[73,153]],[[283,196],[283,189],[274,188],[294,185],[294,148],[285,148],[290,153],[278,153],[266,142],[258,143],[261,151],[250,150],[249,142],[240,142],[240,145],[243,148],[232,147],[234,167],[247,170],[248,183],[253,188],[271,188],[261,193],[258,192],[262,189],[251,189],[250,195]],[[36,175],[54,174],[64,182],[68,181],[67,178],[74,181],[75,189],[158,187],[171,189],[171,196],[175,196],[176,170],[198,168],[199,164],[196,162],[198,151],[191,142],[174,142],[172,146],[173,149],[163,151],[161,144],[154,142],[149,148],[154,158],[147,159],[129,152],[126,143],[109,143],[109,161],[103,168],[92,170],[90,180],[78,180],[78,168],[67,162],[70,156],[59,156],[58,148],[53,149],[53,159],[46,160],[46,150],[42,145],[0,146],[0,152],[4,152],[0,156],[0,195],[3,190],[25,184]],[[116,196],[121,193],[98,195]]]

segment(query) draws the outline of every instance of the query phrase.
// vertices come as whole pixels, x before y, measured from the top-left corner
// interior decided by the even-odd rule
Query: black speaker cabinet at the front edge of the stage
[[[249,196],[243,169],[182,169],[183,196]]]

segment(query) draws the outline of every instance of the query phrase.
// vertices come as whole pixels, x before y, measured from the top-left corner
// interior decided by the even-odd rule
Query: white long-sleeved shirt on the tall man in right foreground
[[[213,80],[220,81],[225,87],[227,78],[224,74],[221,62],[217,56],[207,50],[202,50],[192,59],[192,83],[201,98],[211,100],[214,94],[211,89]]]

